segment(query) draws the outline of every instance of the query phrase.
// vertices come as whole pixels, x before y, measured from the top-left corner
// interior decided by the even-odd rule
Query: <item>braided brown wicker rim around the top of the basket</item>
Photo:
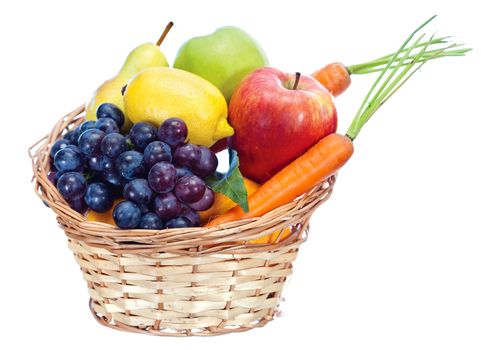
[[[34,189],[40,199],[57,215],[57,221],[67,236],[85,241],[92,246],[113,252],[155,253],[171,251],[176,254],[206,254],[216,252],[249,253],[283,247],[298,240],[305,240],[306,227],[298,222],[307,222],[314,210],[329,199],[336,175],[313,188],[291,203],[276,208],[260,217],[238,220],[215,227],[182,229],[123,230],[118,227],[88,221],[67,204],[55,186],[48,180],[50,171],[49,153],[53,143],[65,130],[72,129],[84,120],[85,105],[81,105],[62,117],[52,130],[35,142],[28,150],[32,162]],[[281,230],[292,225],[286,239],[270,244],[248,244],[247,241],[262,237],[268,232]]]

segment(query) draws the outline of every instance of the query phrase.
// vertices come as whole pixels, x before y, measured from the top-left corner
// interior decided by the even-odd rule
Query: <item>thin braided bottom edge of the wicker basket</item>
[[[217,335],[223,335],[223,334],[229,334],[229,333],[240,333],[240,332],[245,332],[254,328],[264,327],[268,322],[274,319],[274,316],[267,315],[255,323],[244,325],[242,327],[240,326],[230,327],[230,328],[209,327],[209,328],[199,328],[198,330],[195,330],[195,331],[190,329],[185,331],[179,331],[173,328],[153,329],[150,326],[139,328],[139,327],[132,327],[132,326],[123,324],[121,322],[109,322],[109,320],[105,316],[95,311],[94,303],[95,301],[92,298],[90,298],[89,299],[90,312],[92,313],[94,318],[97,320],[97,322],[100,323],[102,326],[112,328],[118,331],[123,331],[123,332],[140,333],[140,334],[148,334],[148,335],[156,335],[156,336],[167,336],[167,337],[191,337],[191,336],[211,337],[211,336],[217,336]]]

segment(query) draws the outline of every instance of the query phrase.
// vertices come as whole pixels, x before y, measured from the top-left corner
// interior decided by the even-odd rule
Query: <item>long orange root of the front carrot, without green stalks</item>
[[[289,203],[336,173],[354,151],[347,136],[331,134],[312,146],[249,196],[249,212],[236,206],[206,226],[261,216]],[[302,179],[302,180],[301,180]]]

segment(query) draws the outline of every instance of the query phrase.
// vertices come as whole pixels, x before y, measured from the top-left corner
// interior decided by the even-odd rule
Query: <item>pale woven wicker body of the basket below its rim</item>
[[[303,241],[272,251],[200,257],[118,255],[74,239],[69,247],[100,324],[151,335],[207,336],[271,321]]]

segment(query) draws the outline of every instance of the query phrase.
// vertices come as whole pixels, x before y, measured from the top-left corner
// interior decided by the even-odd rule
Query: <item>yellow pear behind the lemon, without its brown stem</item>
[[[122,87],[126,85],[134,75],[145,68],[167,66],[169,66],[169,63],[158,46],[151,43],[137,46],[127,56],[117,76],[105,81],[94,92],[92,99],[87,104],[85,118],[87,120],[96,120],[98,106],[106,102],[113,103],[124,111],[124,99],[121,93]],[[123,130],[128,130],[131,125],[132,123],[126,118]]]

